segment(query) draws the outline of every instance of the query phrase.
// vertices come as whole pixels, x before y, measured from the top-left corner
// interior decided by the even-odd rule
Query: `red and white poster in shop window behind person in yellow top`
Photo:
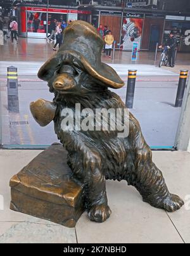
[[[130,50],[133,43],[138,43],[138,49],[141,46],[143,32],[143,18],[124,18],[122,26],[122,48]]]

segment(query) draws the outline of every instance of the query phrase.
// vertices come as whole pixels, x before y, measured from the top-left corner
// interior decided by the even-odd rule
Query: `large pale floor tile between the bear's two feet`
[[[144,203],[125,182],[107,182],[110,219],[97,224],[83,214],[76,230],[79,243],[182,243],[167,214]]]

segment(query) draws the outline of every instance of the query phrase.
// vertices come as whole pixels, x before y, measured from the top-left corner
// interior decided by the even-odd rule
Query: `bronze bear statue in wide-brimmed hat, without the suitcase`
[[[146,144],[139,122],[130,113],[129,136],[119,138],[112,131],[63,129],[63,112],[72,110],[76,122],[76,104],[81,110],[125,110],[117,94],[124,82],[115,70],[101,62],[103,41],[92,25],[72,22],[66,29],[64,42],[58,53],[39,70],[39,78],[48,82],[54,93],[53,103],[39,99],[30,110],[42,126],[54,120],[55,132],[68,151],[68,165],[73,176],[82,181],[85,189],[85,207],[91,221],[104,222],[111,210],[106,196],[106,179],[122,181],[134,186],[144,202],[168,212],[179,210],[184,202],[168,191],[162,172],[152,161],[152,152]],[[91,112],[90,112],[91,113]],[[93,118],[96,118],[96,114]],[[89,122],[94,127],[94,119]],[[108,120],[110,125],[111,120]]]

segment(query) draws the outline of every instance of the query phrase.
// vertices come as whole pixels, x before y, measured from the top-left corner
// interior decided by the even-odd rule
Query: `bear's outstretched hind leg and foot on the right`
[[[184,202],[179,196],[168,191],[162,172],[152,162],[148,146],[136,151],[136,181],[134,186],[143,196],[144,202],[168,212],[179,210]]]

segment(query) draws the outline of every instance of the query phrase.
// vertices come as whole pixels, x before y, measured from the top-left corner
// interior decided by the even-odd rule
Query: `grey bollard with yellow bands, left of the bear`
[[[16,67],[7,68],[8,79],[8,110],[19,113],[18,74]]]

